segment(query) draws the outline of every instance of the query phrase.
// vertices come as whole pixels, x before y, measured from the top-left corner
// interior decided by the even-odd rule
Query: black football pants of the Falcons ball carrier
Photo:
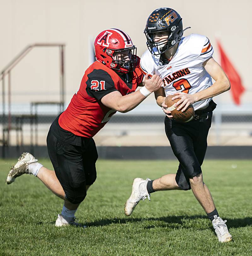
[[[183,190],[191,189],[189,178],[200,174],[207,149],[207,135],[211,127],[213,112],[207,120],[195,120],[179,123],[165,117],[165,133],[173,153],[179,160],[176,183]]]

